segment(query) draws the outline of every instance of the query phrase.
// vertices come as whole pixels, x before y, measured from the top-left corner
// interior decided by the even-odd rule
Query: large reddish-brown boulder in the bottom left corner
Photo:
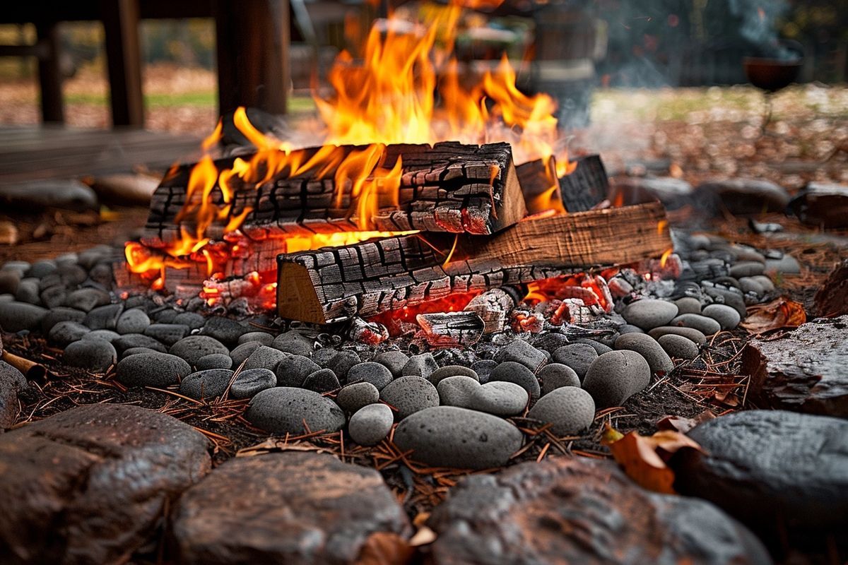
[[[0,435],[0,562],[125,562],[210,466],[204,435],[131,405],[77,407]]]

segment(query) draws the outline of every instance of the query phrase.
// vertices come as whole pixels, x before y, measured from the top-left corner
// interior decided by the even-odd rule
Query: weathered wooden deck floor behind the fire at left
[[[167,169],[198,157],[200,138],[146,130],[0,127],[0,185]]]

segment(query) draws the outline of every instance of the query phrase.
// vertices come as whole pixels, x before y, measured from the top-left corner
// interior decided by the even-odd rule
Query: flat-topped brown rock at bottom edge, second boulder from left
[[[172,530],[184,565],[354,563],[371,535],[411,534],[377,471],[296,451],[216,468],[181,497]]]

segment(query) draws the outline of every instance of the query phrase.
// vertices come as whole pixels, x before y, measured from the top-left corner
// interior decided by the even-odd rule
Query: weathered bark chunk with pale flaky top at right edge
[[[848,315],[802,324],[778,340],[750,341],[742,363],[759,406],[848,418]]]

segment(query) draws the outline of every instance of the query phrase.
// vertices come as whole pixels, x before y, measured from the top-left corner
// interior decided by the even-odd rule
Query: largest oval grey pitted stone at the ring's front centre
[[[429,467],[499,468],[523,439],[522,431],[503,418],[454,406],[426,408],[394,430],[394,444],[412,450],[410,458]]]

